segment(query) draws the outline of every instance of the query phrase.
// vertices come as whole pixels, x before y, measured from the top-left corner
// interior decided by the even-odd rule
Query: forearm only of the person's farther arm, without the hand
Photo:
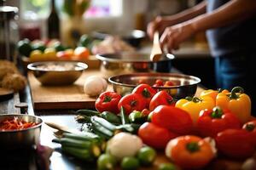
[[[205,14],[206,7],[207,7],[207,1],[203,1],[203,2],[195,5],[195,7],[193,7],[193,8],[189,8],[189,9],[184,10],[183,12],[180,12],[177,14],[172,14],[171,16],[166,16],[163,18],[165,20],[176,20],[177,23],[181,23],[183,21],[193,19],[200,14]]]

